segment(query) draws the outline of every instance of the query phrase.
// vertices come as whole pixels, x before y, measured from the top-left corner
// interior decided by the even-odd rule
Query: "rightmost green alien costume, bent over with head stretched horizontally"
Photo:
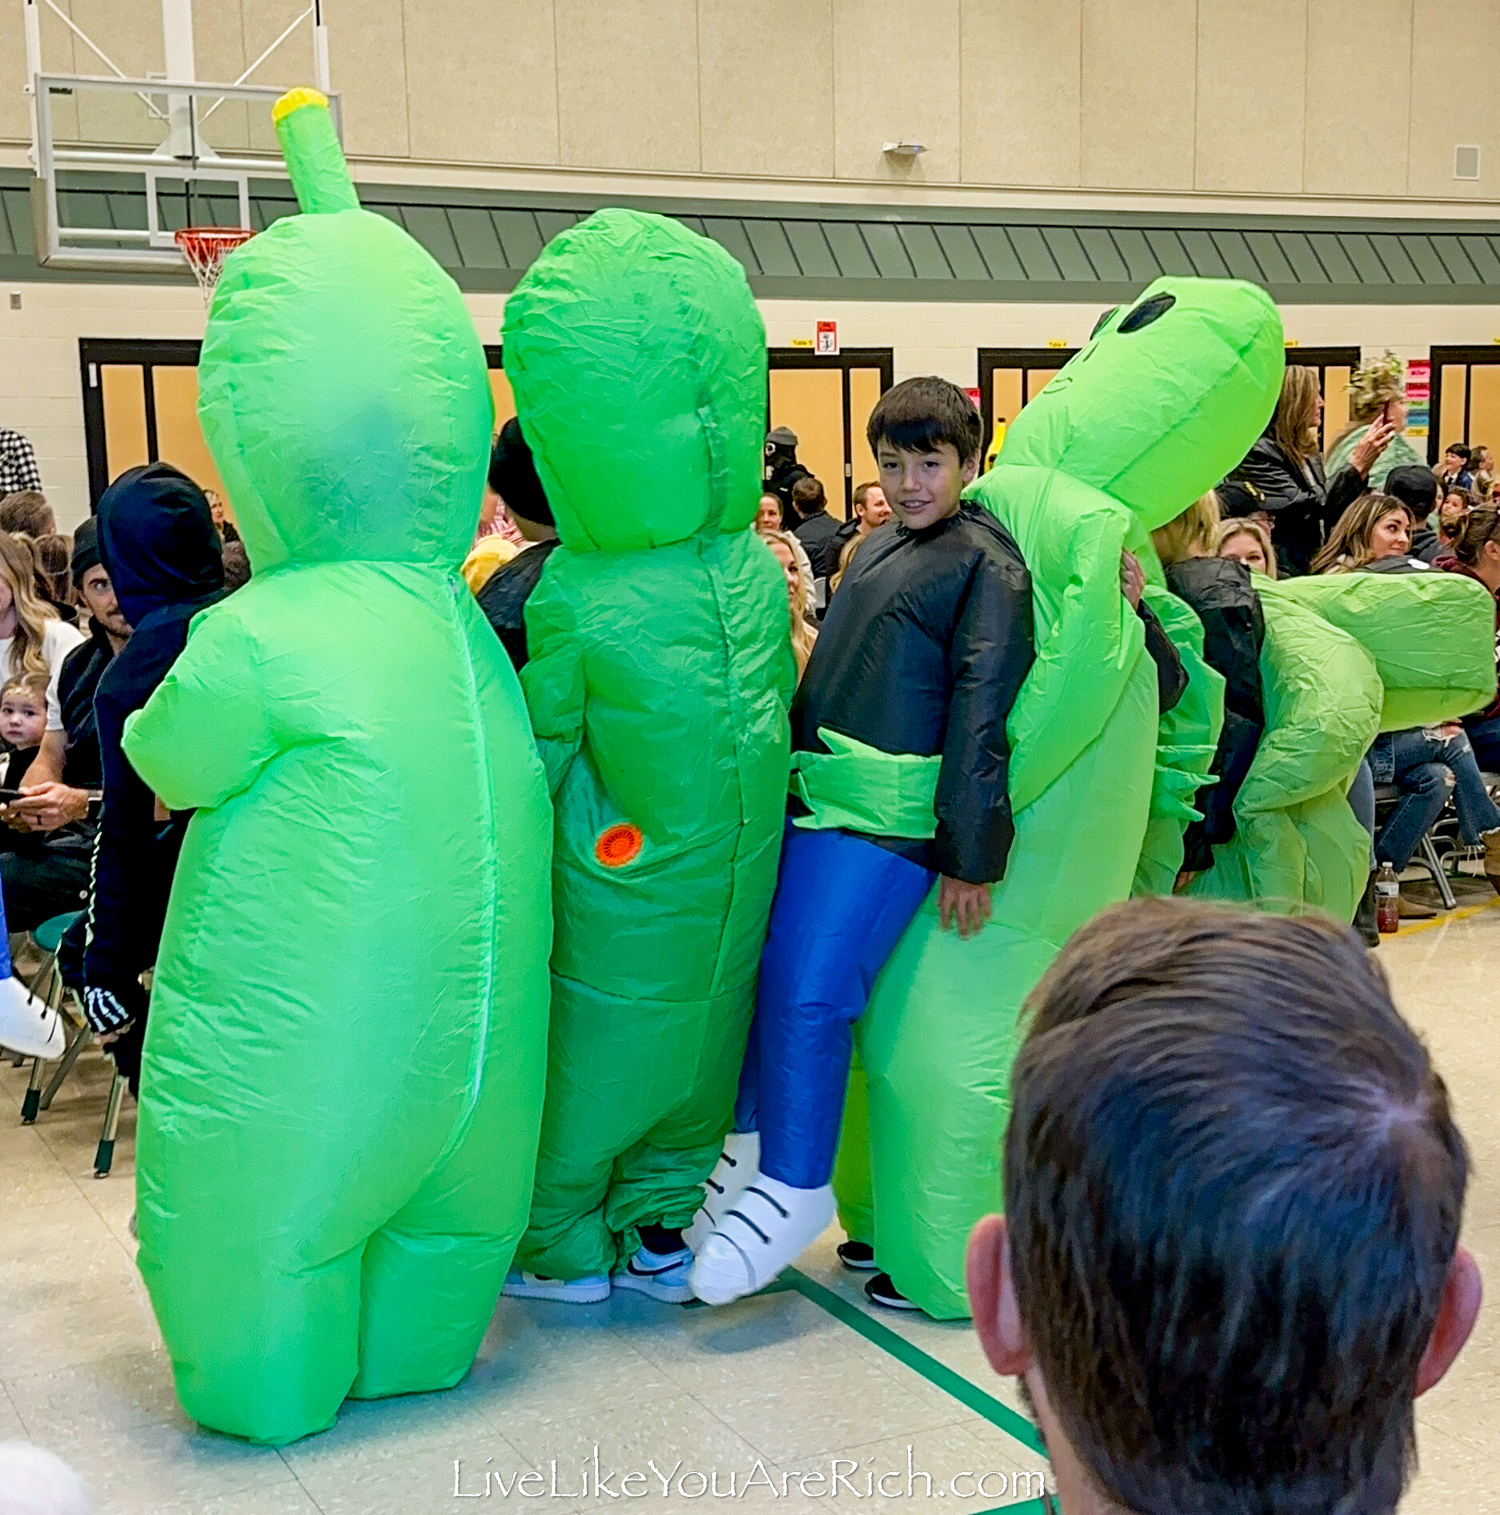
[[[1347,800],[1355,771],[1379,732],[1494,698],[1494,604],[1445,573],[1256,579],[1256,591],[1265,733],[1235,836],[1189,892],[1350,921],[1370,876],[1370,835]]]

